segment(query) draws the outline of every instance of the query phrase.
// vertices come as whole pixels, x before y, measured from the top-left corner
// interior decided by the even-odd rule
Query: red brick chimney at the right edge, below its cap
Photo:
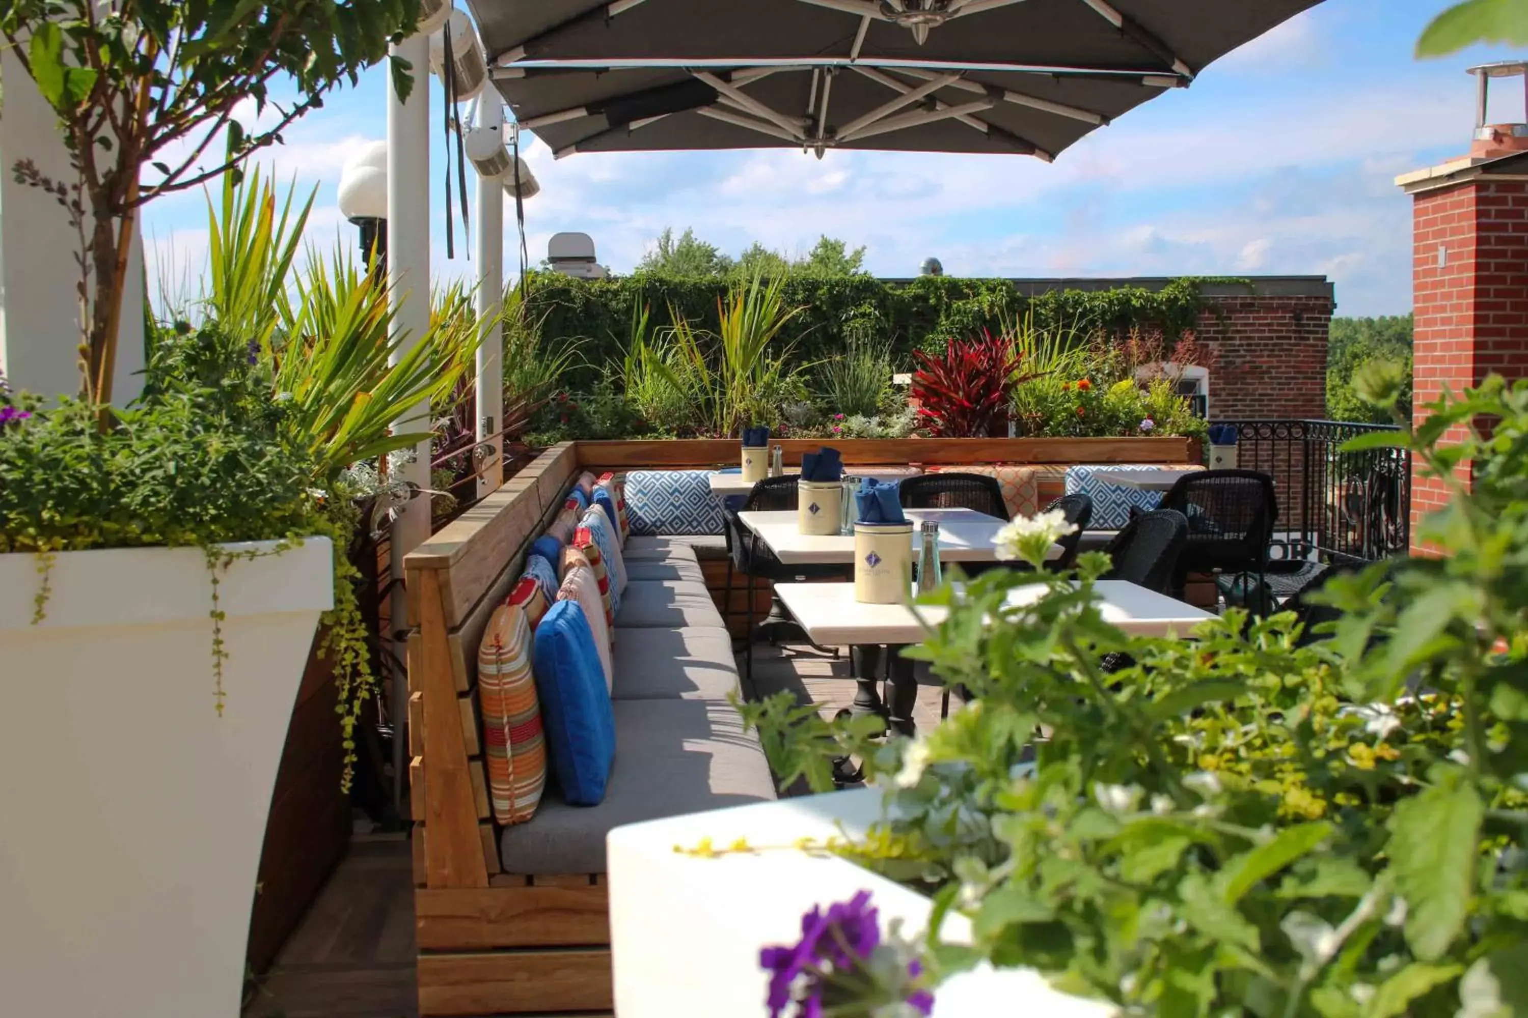
[[[1493,371],[1528,375],[1528,182],[1481,176],[1418,192],[1412,229],[1420,423],[1423,404],[1445,388],[1458,392]],[[1447,501],[1441,481],[1413,473],[1412,534]]]

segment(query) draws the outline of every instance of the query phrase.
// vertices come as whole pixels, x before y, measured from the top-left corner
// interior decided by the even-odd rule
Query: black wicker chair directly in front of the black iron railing
[[[1189,572],[1216,571],[1256,574],[1258,589],[1264,588],[1279,519],[1273,478],[1256,470],[1198,470],[1178,478],[1158,508],[1177,510],[1189,520],[1175,589],[1183,589]]]

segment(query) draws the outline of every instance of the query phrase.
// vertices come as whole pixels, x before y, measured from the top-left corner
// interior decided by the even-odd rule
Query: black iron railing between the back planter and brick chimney
[[[1365,432],[1352,421],[1233,424],[1236,466],[1273,478],[1279,498],[1274,557],[1374,562],[1410,545],[1412,456],[1404,449],[1342,452]]]

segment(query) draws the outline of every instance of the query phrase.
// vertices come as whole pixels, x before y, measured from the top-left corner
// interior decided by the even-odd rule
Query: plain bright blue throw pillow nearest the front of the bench
[[[594,633],[576,600],[558,601],[536,626],[530,670],[562,798],[599,806],[616,759],[616,716]]]

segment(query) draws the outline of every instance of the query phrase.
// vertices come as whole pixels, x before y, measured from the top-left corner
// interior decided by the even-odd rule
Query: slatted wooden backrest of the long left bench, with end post
[[[487,887],[500,868],[483,766],[477,647],[520,578],[527,548],[561,511],[576,470],[573,444],[553,446],[403,560],[414,627],[410,804],[413,820],[423,824],[414,838],[422,862],[417,884]]]

